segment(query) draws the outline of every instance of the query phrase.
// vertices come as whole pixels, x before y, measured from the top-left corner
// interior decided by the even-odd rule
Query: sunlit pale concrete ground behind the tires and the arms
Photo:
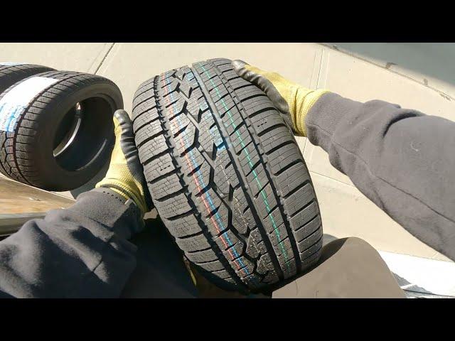
[[[128,112],[133,94],[144,80],[175,67],[218,57],[242,59],[275,70],[306,87],[327,88],[351,99],[383,99],[455,120],[455,69],[451,63],[455,44],[0,44],[0,61],[38,63],[108,77],[122,90]],[[362,195],[346,175],[330,165],[321,148],[305,138],[299,138],[299,146],[311,171],[326,234],[360,237],[382,251],[449,261],[412,237]]]

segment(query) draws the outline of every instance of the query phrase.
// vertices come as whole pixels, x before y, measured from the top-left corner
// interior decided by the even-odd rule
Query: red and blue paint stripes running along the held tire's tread
[[[164,79],[164,75],[161,76],[161,82],[164,85],[164,90],[165,90],[164,96],[169,94],[169,96],[171,97],[171,101],[170,102],[171,103],[173,102],[173,104],[171,104],[171,106],[168,107],[168,110],[171,112],[171,115],[172,115],[173,112],[174,112],[174,107],[175,107],[175,104],[176,104],[177,101],[174,102],[173,92],[169,93],[171,82],[168,82],[168,79],[165,80]],[[181,123],[180,115],[178,115],[176,117],[176,121],[178,122],[178,126],[176,125],[176,128],[183,129],[183,124]],[[191,144],[189,144],[188,140],[186,139],[186,131],[182,131],[182,133],[179,135],[179,137],[180,137],[180,142],[181,142],[181,146],[183,148],[183,151],[185,150],[185,146],[186,146],[186,148],[191,146]],[[183,141],[183,139],[185,139],[185,141]],[[188,153],[190,154],[191,161],[188,158]],[[193,163],[193,167],[197,168],[198,165],[197,165],[195,157],[193,155],[193,151],[190,150],[188,153],[185,154],[188,166],[191,166],[191,163]],[[197,177],[196,177],[196,174],[197,174]],[[199,192],[200,192],[200,190],[202,190],[202,188],[206,187],[205,182],[203,180],[203,176],[200,173],[200,169],[198,169],[198,171],[193,173],[193,178],[195,180],[196,187],[198,188]],[[200,187],[200,185],[202,185],[202,187]],[[213,200],[212,200],[212,198],[210,196],[210,193],[208,193],[208,191],[207,191],[204,194],[205,194],[205,198],[204,198],[204,195],[201,195],[201,198],[203,199],[203,204],[204,204],[205,208],[210,213],[213,210],[215,210],[216,207],[213,204]],[[221,220],[220,214],[218,213],[218,211],[215,212],[215,215],[211,215],[210,220],[212,220],[213,225],[214,225],[214,227],[215,227],[215,229],[216,229],[216,231],[218,233],[220,233],[220,231],[223,231],[223,229],[225,229],[223,221]],[[220,229],[219,226],[221,227],[221,229]],[[240,259],[240,256],[239,256],[239,254],[237,254],[237,250],[235,250],[235,247],[232,247],[233,244],[232,244],[232,241],[230,240],[227,232],[224,232],[223,234],[220,234],[220,238],[221,238],[223,244],[225,245],[225,247],[228,249],[228,253],[230,254],[231,259],[234,262],[234,264],[237,267],[237,269],[241,270],[246,276],[250,276],[251,274],[250,274],[250,271],[248,271],[247,266],[243,263],[242,259]],[[234,254],[232,254],[231,249],[234,252]],[[253,276],[251,276],[251,280],[256,283],[255,278]]]

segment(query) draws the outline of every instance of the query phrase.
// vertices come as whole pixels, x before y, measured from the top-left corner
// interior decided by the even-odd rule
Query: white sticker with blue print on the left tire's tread
[[[37,94],[58,80],[48,77],[31,77],[19,83],[0,99],[0,130],[14,131],[14,125],[23,110]]]

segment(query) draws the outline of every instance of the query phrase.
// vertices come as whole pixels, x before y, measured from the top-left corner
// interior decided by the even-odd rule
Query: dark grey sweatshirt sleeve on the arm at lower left
[[[118,297],[136,266],[127,239],[141,228],[130,200],[82,193],[0,242],[0,297]]]

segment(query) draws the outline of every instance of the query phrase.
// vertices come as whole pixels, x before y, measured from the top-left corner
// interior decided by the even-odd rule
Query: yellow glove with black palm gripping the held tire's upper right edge
[[[242,60],[232,62],[237,75],[261,89],[282,113],[294,134],[306,136],[305,117],[314,103],[328,90],[306,89],[276,72],[267,72]]]

